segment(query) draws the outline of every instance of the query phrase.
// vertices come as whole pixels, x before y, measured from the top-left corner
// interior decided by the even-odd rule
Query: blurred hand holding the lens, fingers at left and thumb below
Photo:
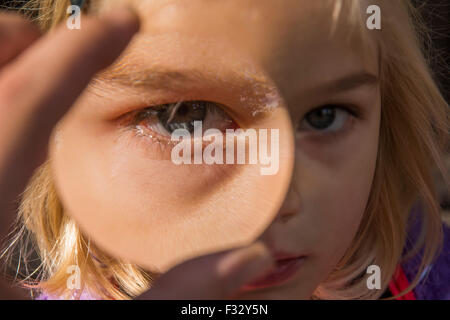
[[[50,134],[90,79],[110,65],[139,29],[122,9],[41,36],[31,23],[0,15],[0,237],[16,217],[14,201],[45,160]],[[196,258],[162,275],[139,299],[224,299],[272,267],[256,243]],[[0,279],[0,299],[25,298]]]

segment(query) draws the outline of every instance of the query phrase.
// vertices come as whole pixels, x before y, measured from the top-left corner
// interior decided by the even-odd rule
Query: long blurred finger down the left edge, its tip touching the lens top
[[[139,21],[122,9],[102,19],[84,19],[82,27],[46,35],[0,74],[0,237],[52,128],[91,77],[123,51]]]

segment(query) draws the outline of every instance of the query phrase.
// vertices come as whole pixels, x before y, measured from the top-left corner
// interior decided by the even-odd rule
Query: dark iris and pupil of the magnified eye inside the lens
[[[158,118],[167,131],[172,133],[176,129],[186,129],[194,132],[194,121],[203,121],[206,117],[207,106],[205,102],[183,102],[177,107],[171,105],[158,112]]]

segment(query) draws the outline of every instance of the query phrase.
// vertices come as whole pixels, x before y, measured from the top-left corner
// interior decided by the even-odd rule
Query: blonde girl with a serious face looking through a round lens
[[[68,2],[35,1],[43,30],[65,24]],[[117,2],[87,1],[83,12],[102,15]],[[450,298],[448,229],[432,180],[435,168],[448,178],[448,105],[409,1],[120,2],[139,14],[139,34],[58,123],[48,161],[22,195],[13,243],[25,250],[22,265],[30,245],[42,260],[25,284],[43,299],[129,299],[151,288],[158,270],[149,267],[146,213],[189,212],[190,199],[228,195],[227,179],[198,177],[205,167],[152,161],[170,148],[161,147],[171,133],[161,113],[208,102],[204,111],[222,123],[252,128],[267,115],[249,105],[274,103],[262,90],[289,112],[295,163],[277,217],[258,237],[275,266],[233,297]],[[377,8],[381,29],[367,23]],[[72,265],[78,291],[67,288]]]

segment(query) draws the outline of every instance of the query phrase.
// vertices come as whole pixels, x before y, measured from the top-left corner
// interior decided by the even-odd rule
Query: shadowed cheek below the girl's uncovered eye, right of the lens
[[[349,248],[364,215],[378,152],[379,117],[359,125],[344,143],[297,156],[297,181],[310,245],[327,272]],[[308,231],[306,231],[308,232]],[[325,272],[325,273],[327,273]]]

